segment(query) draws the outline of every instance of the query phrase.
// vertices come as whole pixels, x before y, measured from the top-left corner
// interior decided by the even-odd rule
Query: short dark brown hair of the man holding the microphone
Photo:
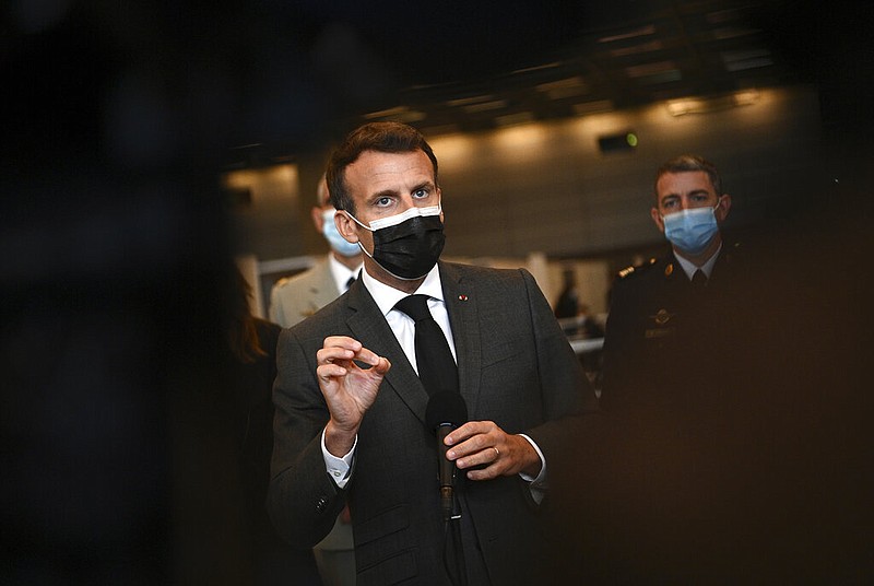
[[[382,153],[409,153],[421,150],[434,165],[434,183],[437,184],[437,157],[422,132],[400,122],[370,122],[346,136],[342,144],[328,161],[328,190],[331,203],[338,210],[355,213],[355,203],[346,189],[345,171],[365,151]]]

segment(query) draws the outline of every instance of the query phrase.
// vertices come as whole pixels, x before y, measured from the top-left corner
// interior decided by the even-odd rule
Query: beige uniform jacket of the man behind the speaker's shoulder
[[[270,320],[291,328],[340,295],[328,257],[300,274],[282,279],[270,291]]]

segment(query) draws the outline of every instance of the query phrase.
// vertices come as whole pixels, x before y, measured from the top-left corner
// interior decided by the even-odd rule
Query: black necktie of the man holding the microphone
[[[416,366],[425,390],[428,395],[446,390],[458,392],[458,367],[444,330],[428,310],[428,296],[410,295],[399,301],[394,307],[416,323]]]

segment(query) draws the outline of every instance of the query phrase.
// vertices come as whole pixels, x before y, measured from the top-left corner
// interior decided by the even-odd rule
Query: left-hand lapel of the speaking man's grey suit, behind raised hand
[[[406,355],[403,353],[391,328],[389,328],[386,317],[379,310],[379,306],[377,306],[361,279],[352,284],[347,298],[351,314],[346,325],[353,337],[359,340],[367,349],[389,359],[391,362],[391,368],[382,379],[383,388],[380,392],[385,392],[387,390],[385,387],[388,385],[410,408],[413,414],[424,422],[428,394],[410,361],[406,360]]]

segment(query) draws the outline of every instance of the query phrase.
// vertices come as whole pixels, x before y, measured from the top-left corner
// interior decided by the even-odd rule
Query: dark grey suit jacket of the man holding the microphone
[[[594,394],[533,277],[440,262],[458,354],[461,394],[471,420],[525,433],[547,465],[571,445]],[[316,351],[329,335],[359,340],[391,361],[358,433],[352,478],[336,488],[326,471],[321,431],[328,409],[316,379]],[[359,281],[280,338],[269,509],[279,531],[310,547],[349,501],[358,584],[446,584],[436,440],[423,423],[428,402],[373,297]],[[465,550],[482,552],[495,585],[542,584],[547,536],[541,511],[518,476],[461,477],[463,514],[473,520]],[[477,553],[479,554],[479,553]]]

